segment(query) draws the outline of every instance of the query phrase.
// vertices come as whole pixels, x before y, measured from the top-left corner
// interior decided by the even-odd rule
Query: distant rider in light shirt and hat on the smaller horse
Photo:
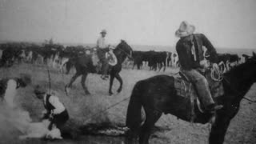
[[[106,80],[108,78],[108,69],[109,69],[109,64],[108,60],[106,58],[106,52],[109,51],[110,45],[107,44],[106,42],[106,30],[101,31],[101,36],[97,40],[97,45],[96,47],[98,48],[97,53],[98,53],[98,58],[100,59],[100,62],[102,63],[102,76],[101,78]]]

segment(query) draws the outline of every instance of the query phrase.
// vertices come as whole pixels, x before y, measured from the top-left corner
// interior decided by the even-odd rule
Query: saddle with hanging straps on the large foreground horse
[[[224,94],[224,89],[222,86],[222,82],[214,81],[210,76],[210,70],[206,70],[205,74],[207,82],[210,87],[210,94],[212,98],[220,97]],[[197,106],[198,110],[201,113],[205,113],[205,108],[201,105],[200,100],[198,99],[198,93],[193,83],[190,82],[190,79],[183,74],[181,71],[178,73],[178,76],[174,77],[174,89],[176,90],[176,94],[183,98],[188,98],[191,103],[191,122],[194,122],[194,109]]]

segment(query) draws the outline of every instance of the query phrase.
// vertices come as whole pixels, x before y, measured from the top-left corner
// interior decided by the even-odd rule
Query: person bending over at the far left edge
[[[7,106],[14,108],[14,98],[18,88],[24,88],[31,83],[29,74],[20,74],[18,78],[3,78],[0,80],[0,98]]]

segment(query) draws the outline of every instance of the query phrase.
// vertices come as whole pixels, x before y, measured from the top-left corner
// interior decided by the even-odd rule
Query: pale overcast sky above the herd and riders
[[[0,40],[175,46],[183,20],[214,46],[256,48],[255,0],[0,0]]]

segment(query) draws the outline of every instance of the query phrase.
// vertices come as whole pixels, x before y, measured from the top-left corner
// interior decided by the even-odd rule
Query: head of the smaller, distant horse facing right
[[[115,48],[115,51],[119,50],[119,54],[124,54],[128,58],[132,58],[133,49],[127,44],[126,41],[121,40],[118,46]]]

